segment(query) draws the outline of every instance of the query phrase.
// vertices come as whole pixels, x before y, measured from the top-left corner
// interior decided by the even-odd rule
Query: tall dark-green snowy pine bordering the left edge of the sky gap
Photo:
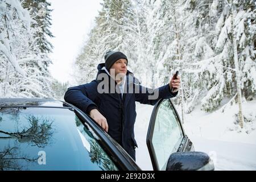
[[[49,30],[51,26],[51,12],[49,9],[51,3],[47,0],[24,0],[22,6],[30,12],[31,18],[34,23],[31,23],[31,30],[33,35],[33,42],[30,47],[34,48],[35,54],[40,57],[37,64],[31,65],[39,69],[38,80],[43,83],[42,92],[48,93],[48,97],[53,96],[51,90],[52,77],[49,73],[49,65],[52,64],[49,59],[48,53],[52,52],[52,44],[49,42],[49,38],[53,38],[52,32]]]

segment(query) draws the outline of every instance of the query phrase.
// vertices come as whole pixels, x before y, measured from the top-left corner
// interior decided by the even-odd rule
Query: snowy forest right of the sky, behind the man
[[[256,90],[255,18],[253,0],[105,0],[74,76],[78,84],[93,80],[104,53],[120,50],[151,88],[180,71],[175,104],[182,120],[197,104],[212,112],[228,98],[226,105],[239,105],[243,127],[242,102],[253,100]]]

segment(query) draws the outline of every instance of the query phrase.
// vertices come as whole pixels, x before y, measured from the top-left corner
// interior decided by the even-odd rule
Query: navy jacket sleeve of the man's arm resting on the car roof
[[[92,81],[88,84],[68,88],[64,100],[89,114],[90,110],[98,109],[98,106],[94,103],[96,96],[97,83]]]

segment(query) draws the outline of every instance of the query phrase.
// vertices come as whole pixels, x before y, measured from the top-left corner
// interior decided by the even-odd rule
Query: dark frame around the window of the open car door
[[[172,101],[170,100],[170,98],[168,98],[168,99],[161,98],[158,102],[156,102],[156,104],[154,106],[154,109],[152,110],[150,123],[148,125],[147,138],[146,138],[147,148],[148,148],[148,152],[150,154],[152,167],[155,171],[160,170],[160,168],[158,166],[158,162],[156,162],[156,154],[155,154],[155,150],[154,150],[153,144],[152,144],[152,137],[153,137],[153,131],[154,131],[155,120],[156,120],[156,115],[158,113],[158,109],[160,107],[160,104],[162,104],[162,102],[164,102],[166,100],[169,100],[172,107],[174,108],[175,114],[177,115],[177,119],[178,119],[178,122],[179,122],[178,124],[179,124],[179,126],[181,128],[181,131],[183,133],[183,139],[181,140],[181,142],[179,144],[179,147],[177,148],[176,152],[184,152],[184,151],[193,151],[194,150],[193,143],[188,138],[188,136],[185,134],[185,131],[184,131],[183,126],[181,124],[179,114],[177,113],[177,110],[176,110],[174,104],[172,104]]]

